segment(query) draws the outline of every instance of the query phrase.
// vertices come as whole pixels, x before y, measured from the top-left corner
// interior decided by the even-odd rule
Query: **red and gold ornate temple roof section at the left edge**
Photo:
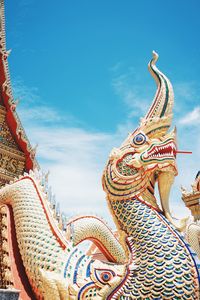
[[[37,166],[14,107],[6,49],[4,1],[0,0],[0,186]]]

